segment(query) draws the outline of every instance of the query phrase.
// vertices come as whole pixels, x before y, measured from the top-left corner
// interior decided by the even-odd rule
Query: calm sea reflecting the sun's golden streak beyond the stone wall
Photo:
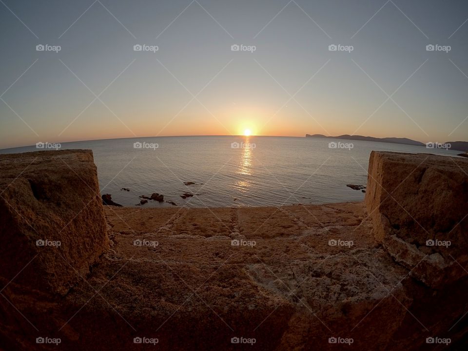
[[[330,142],[352,143],[353,147],[331,149]],[[135,148],[135,143],[141,148]],[[111,194],[117,203],[135,206],[139,195],[159,193],[165,200],[187,207],[361,201],[365,194],[346,184],[366,184],[372,150],[460,153],[305,137],[153,137],[70,142],[62,143],[61,148],[93,150],[101,194]],[[33,146],[0,153],[36,150]],[[184,182],[195,184],[186,186]],[[180,195],[184,193],[194,196],[183,199]],[[172,205],[149,201],[143,206]]]

